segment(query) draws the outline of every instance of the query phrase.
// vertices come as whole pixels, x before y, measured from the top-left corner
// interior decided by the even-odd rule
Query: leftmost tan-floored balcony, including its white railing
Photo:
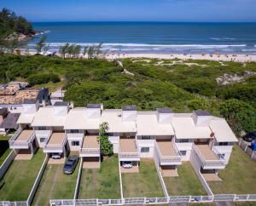
[[[9,140],[9,148],[11,149],[28,149],[35,133],[32,129],[19,128]]]

